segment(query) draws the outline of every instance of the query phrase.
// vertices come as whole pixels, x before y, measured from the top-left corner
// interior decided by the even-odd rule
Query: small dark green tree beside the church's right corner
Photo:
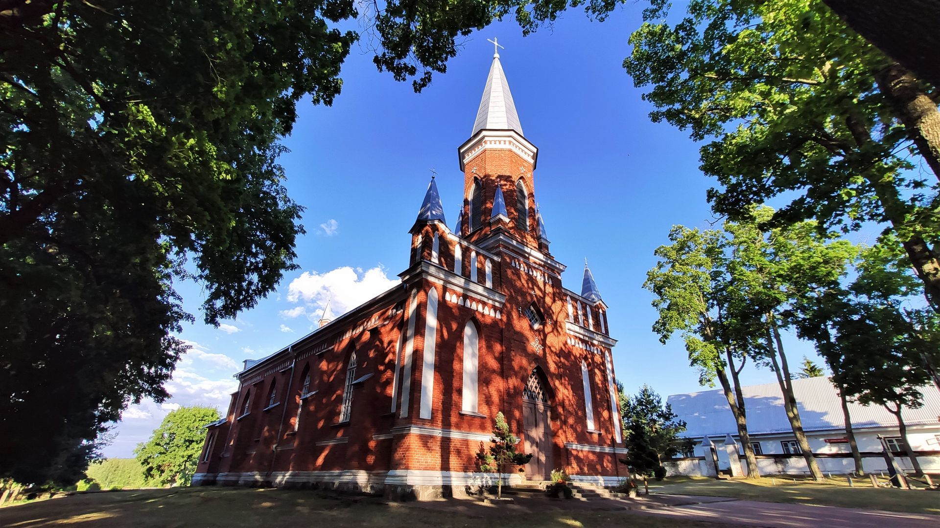
[[[619,400],[627,446],[627,458],[621,461],[635,474],[652,476],[663,466],[664,458],[682,452],[684,445],[679,435],[686,424],[649,385],[643,385],[635,396],[627,395],[621,386]]]

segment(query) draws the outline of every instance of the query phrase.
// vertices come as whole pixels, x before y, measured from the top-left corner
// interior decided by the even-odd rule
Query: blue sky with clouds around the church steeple
[[[207,404],[225,412],[237,387],[232,374],[309,332],[322,303],[334,314],[391,287],[408,264],[410,237],[430,169],[447,221],[462,201],[457,148],[473,126],[493,57],[487,39],[498,37],[509,87],[525,130],[539,152],[535,193],[552,253],[569,266],[566,287],[580,290],[585,257],[610,306],[617,377],[628,392],[648,383],[661,395],[698,390],[677,337],[661,345],[656,318],[641,285],[655,264],[653,250],[672,225],[708,227],[705,191],[713,183],[698,171],[697,145],[666,123],[650,122],[621,62],[627,39],[640,23],[628,6],[604,23],[571,10],[553,28],[523,38],[511,22],[494,23],[464,43],[444,75],[421,94],[410,83],[379,73],[367,46],[356,46],[343,66],[343,91],[332,107],[299,106],[299,118],[282,156],[290,195],[306,208],[306,235],[297,241],[300,270],[287,273],[278,291],[216,329],[197,323],[180,335],[193,349],[167,384],[173,397],[144,402],[124,413],[118,436],[104,450],[130,457],[165,413],[179,405]],[[198,313],[203,292],[177,285],[188,311]],[[790,339],[788,356],[814,355]],[[747,367],[746,384],[775,380]]]

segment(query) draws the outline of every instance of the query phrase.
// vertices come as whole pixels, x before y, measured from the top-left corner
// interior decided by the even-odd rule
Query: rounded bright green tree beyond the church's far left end
[[[148,480],[189,486],[206,441],[205,426],[219,419],[211,407],[180,407],[153,430],[150,440],[133,450]]]

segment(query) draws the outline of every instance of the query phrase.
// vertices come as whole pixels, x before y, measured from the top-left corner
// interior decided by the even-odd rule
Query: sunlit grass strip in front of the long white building
[[[651,493],[735,497],[748,501],[826,505],[940,514],[940,491],[927,489],[874,489],[871,481],[853,479],[849,488],[844,476],[825,482],[791,477],[761,477],[756,480],[715,480],[703,476],[671,476],[663,482],[650,482]]]

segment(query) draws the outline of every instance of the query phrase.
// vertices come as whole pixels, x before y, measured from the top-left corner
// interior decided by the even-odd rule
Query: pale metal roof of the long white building
[[[924,406],[904,409],[904,423],[936,424],[940,415],[940,391],[933,385],[920,388]],[[792,429],[783,409],[783,393],[775,383],[742,387],[744,409],[747,412],[747,430],[750,434],[789,433]],[[800,419],[807,431],[841,429],[845,427],[842,406],[836,387],[828,378],[793,380],[793,394],[800,411]],[[737,434],[728,400],[721,390],[702,391],[666,398],[672,412],[688,424],[684,436],[723,436]],[[849,402],[849,415],[853,427],[898,427],[894,415],[880,405],[863,406]]]

